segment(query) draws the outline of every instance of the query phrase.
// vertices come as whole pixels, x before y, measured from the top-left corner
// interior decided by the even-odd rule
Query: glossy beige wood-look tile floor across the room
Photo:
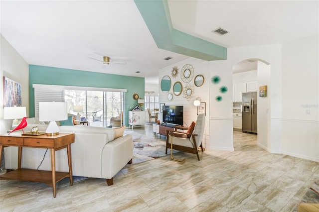
[[[151,125],[134,131],[154,136]],[[256,143],[256,135],[234,131],[233,152],[206,149],[200,161],[177,153],[176,158],[186,158],[184,164],[165,156],[127,165],[110,187],[104,179],[73,186],[64,179],[56,198],[45,184],[1,180],[0,211],[293,211],[319,179],[319,163],[270,154]]]

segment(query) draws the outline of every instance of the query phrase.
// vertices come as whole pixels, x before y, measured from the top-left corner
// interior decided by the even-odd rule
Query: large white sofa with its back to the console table
[[[38,126],[44,132],[47,125],[34,123],[27,119],[28,125],[23,128],[29,132]],[[105,178],[107,184],[113,185],[113,177],[127,164],[132,163],[134,143],[132,135],[122,135],[116,139],[115,129],[94,126],[59,126],[60,132],[75,134],[75,142],[71,144],[73,176]],[[14,132],[13,132],[14,133]],[[12,133],[12,134],[13,134]],[[50,151],[41,148],[22,148],[21,168],[51,170]],[[17,147],[4,148],[6,169],[17,169]],[[68,172],[66,148],[55,153],[56,171]]]

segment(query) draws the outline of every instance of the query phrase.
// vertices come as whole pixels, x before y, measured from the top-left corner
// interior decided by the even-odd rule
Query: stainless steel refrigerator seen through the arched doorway
[[[243,93],[242,131],[257,134],[257,92]]]

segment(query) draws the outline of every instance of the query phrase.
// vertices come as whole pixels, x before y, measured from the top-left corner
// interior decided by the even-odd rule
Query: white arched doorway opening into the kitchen
[[[270,147],[270,92],[260,97],[260,87],[270,85],[270,64],[258,58],[249,58],[233,66],[233,126],[238,127],[239,118],[243,121],[242,93],[257,92],[257,145],[264,149]],[[237,89],[237,91],[236,91]],[[237,113],[236,113],[237,112]],[[241,115],[239,115],[241,113]],[[237,115],[236,115],[237,114]],[[237,122],[236,122],[237,121]],[[237,125],[235,125],[237,123]],[[242,122],[243,124],[243,122]],[[243,127],[241,125],[241,127]]]

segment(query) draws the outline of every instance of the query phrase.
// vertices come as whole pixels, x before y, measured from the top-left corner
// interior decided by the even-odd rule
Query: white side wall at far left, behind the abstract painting
[[[3,77],[21,84],[22,106],[26,106],[27,116],[29,114],[29,65],[15,51],[15,49],[0,34],[0,119],[3,119]],[[0,120],[0,133],[7,126],[5,121]],[[11,122],[12,123],[12,122]]]

